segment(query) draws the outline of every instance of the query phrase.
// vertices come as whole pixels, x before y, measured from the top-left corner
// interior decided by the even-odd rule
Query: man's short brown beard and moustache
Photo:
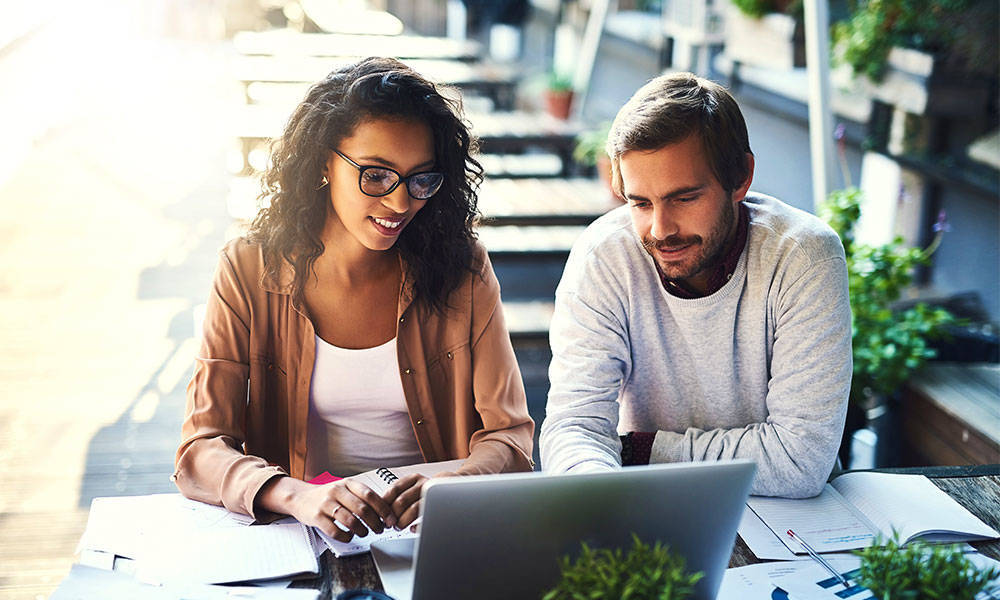
[[[719,219],[715,222],[708,237],[701,236],[680,236],[672,235],[662,240],[657,240],[651,235],[642,238],[642,246],[646,252],[653,257],[660,271],[667,279],[687,280],[702,271],[712,268],[722,262],[726,252],[726,242],[729,241],[731,232],[736,223],[736,206],[727,201],[723,205]],[[692,246],[686,252],[688,255],[678,261],[668,261],[663,259],[657,249],[680,248],[682,246]],[[692,253],[693,251],[693,253]]]

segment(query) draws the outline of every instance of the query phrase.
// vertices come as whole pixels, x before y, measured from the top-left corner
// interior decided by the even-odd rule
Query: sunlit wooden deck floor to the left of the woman
[[[191,307],[231,223],[224,47],[128,37],[141,9],[106,4],[0,52],[0,114],[19,121],[0,152],[5,600],[58,586],[91,498],[175,489]],[[56,72],[80,76],[39,76]]]

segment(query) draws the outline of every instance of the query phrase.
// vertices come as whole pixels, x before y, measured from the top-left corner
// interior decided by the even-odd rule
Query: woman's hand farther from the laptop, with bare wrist
[[[263,508],[291,515],[341,542],[349,542],[355,535],[364,537],[369,530],[382,533],[397,521],[390,502],[352,479],[313,485],[278,477],[264,486],[258,498]]]

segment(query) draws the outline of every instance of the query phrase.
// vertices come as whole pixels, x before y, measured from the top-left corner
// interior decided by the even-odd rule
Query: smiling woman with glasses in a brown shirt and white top
[[[425,478],[383,497],[304,480],[455,458],[458,474],[532,468],[471,229],[472,148],[456,103],[398,61],[309,90],[275,145],[270,205],[221,253],[176,457],[185,496],[347,541],[409,526]]]

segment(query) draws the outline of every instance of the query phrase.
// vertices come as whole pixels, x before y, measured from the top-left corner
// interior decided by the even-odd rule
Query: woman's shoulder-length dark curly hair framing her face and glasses
[[[266,208],[247,234],[263,249],[266,277],[276,280],[282,265],[291,265],[293,296],[301,299],[324,249],[320,232],[329,196],[325,187],[317,188],[331,149],[362,122],[414,119],[433,132],[435,168],[444,173],[444,184],[395,247],[407,265],[415,298],[437,311],[446,308],[448,295],[474,272],[472,226],[483,177],[482,166],[472,158],[477,144],[463,120],[461,102],[457,94],[443,95],[446,89],[391,58],[366,58],[309,88],[282,136],[272,142],[261,194]]]

